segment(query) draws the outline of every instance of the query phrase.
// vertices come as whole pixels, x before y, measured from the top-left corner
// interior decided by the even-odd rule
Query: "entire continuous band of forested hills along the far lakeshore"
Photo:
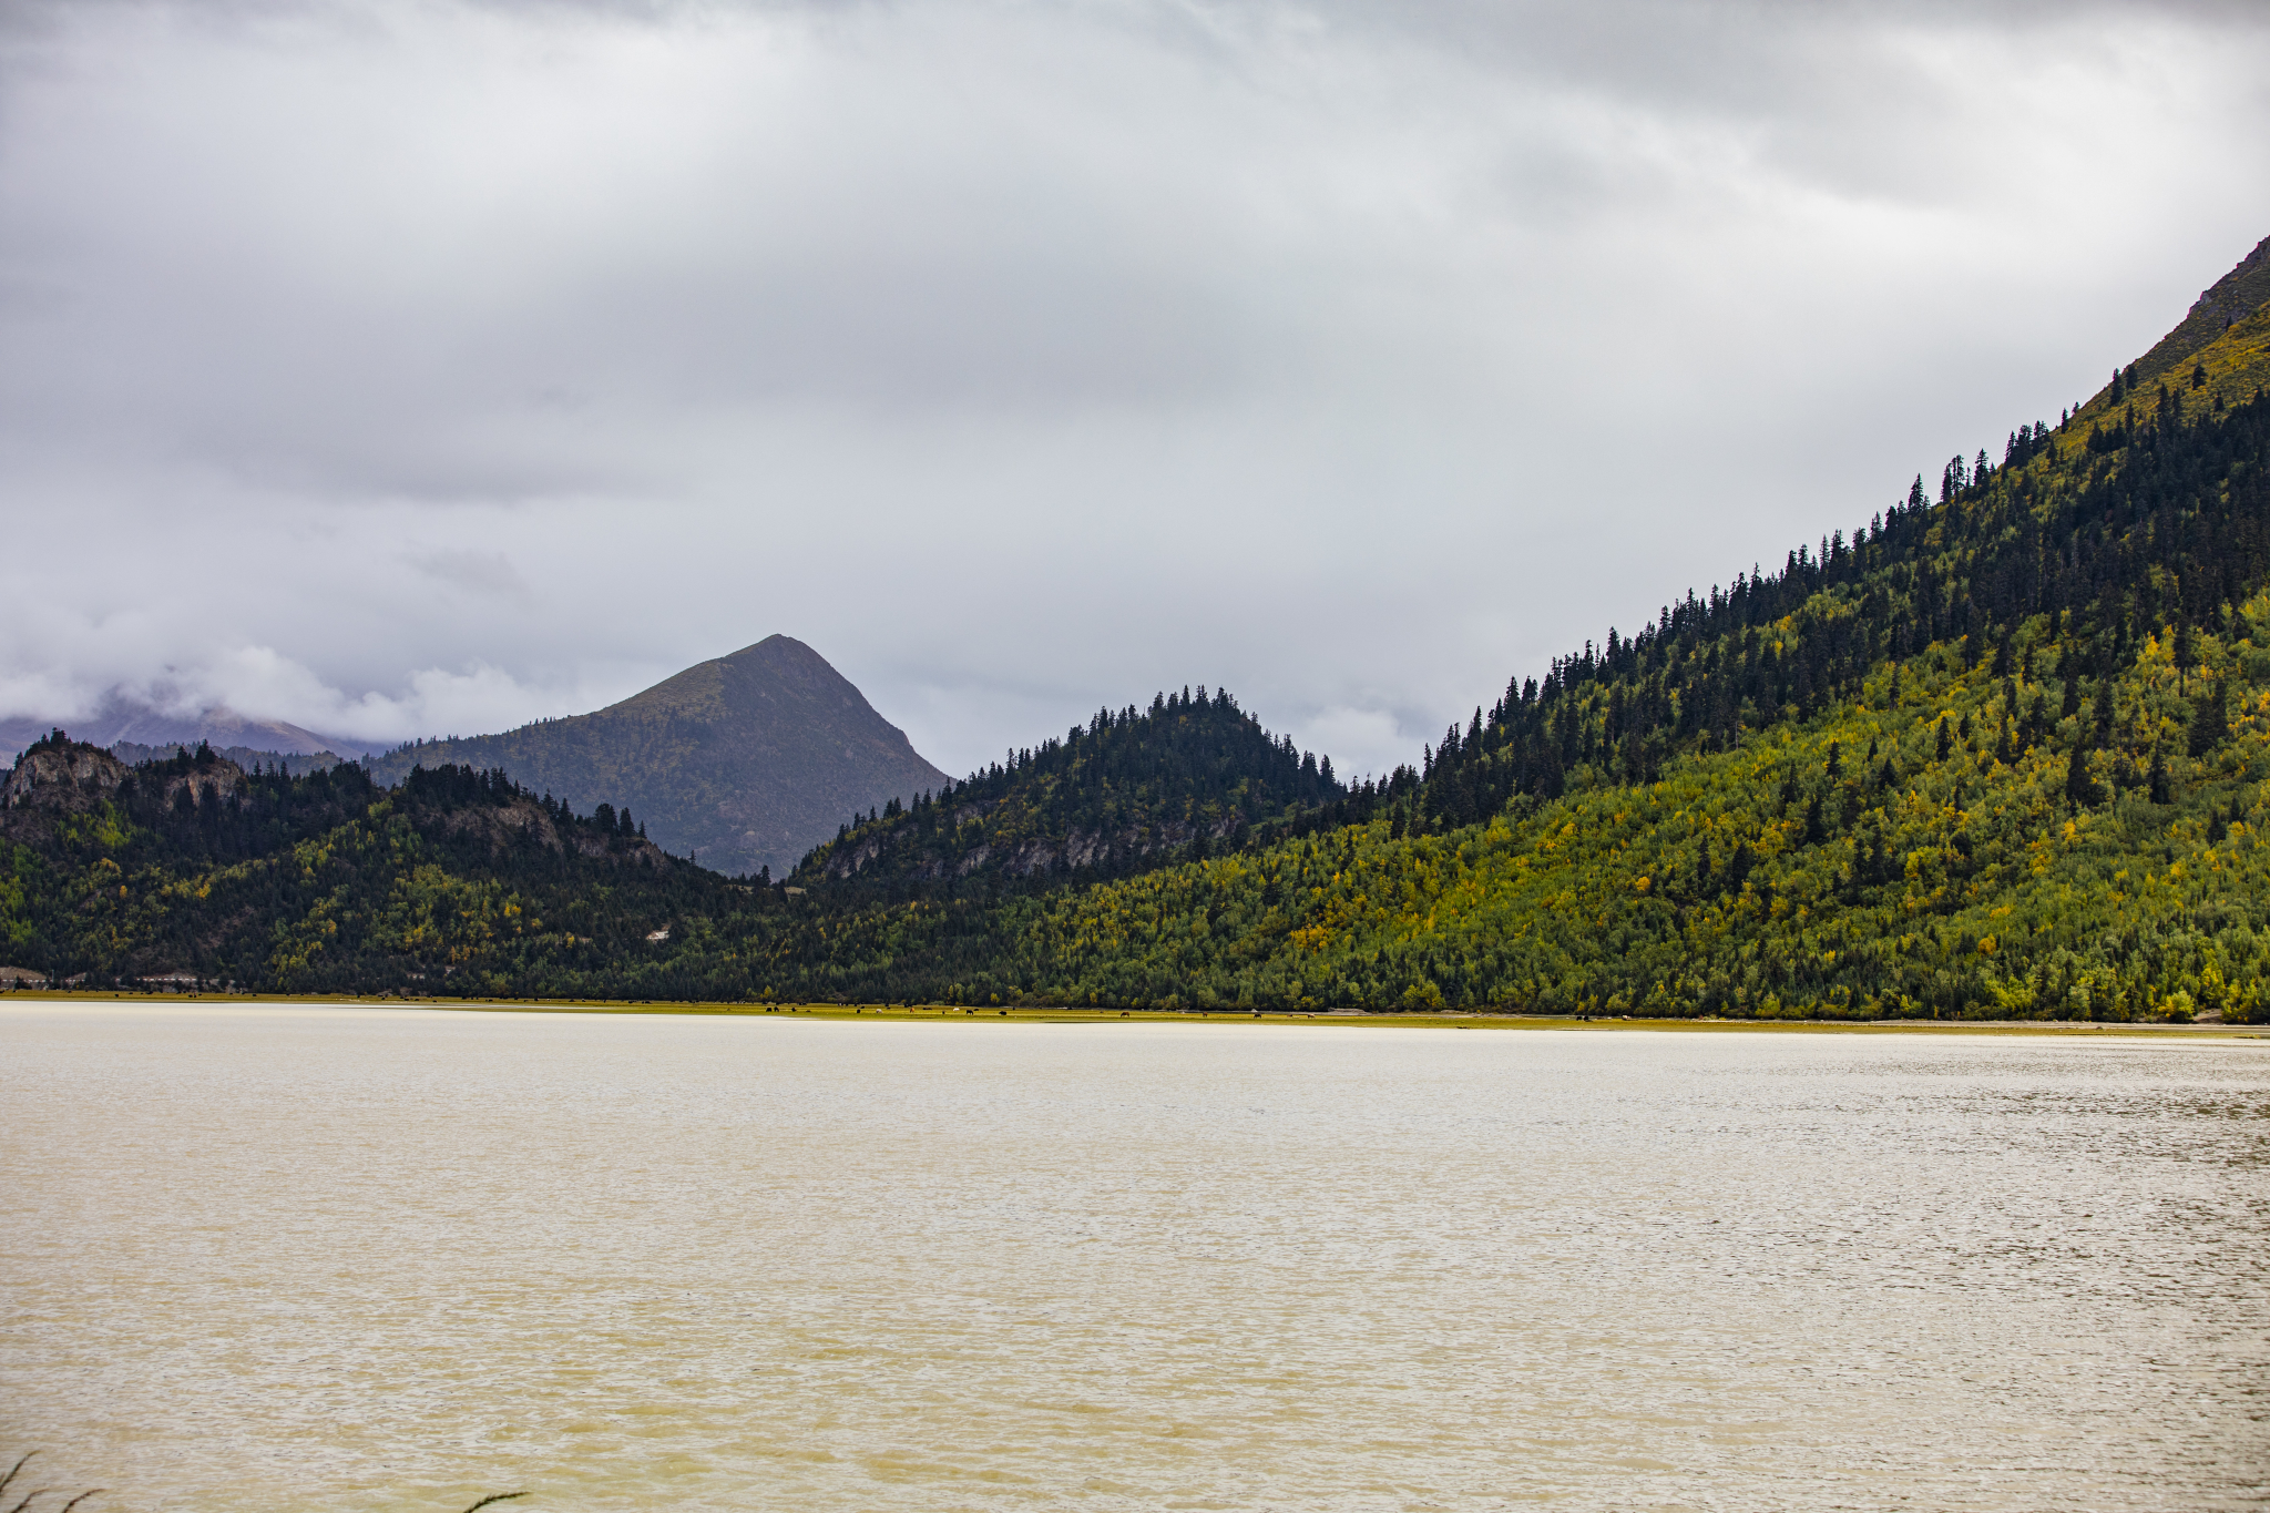
[[[2256,263],[2156,377],[1510,683],[1385,785],[1160,699],[878,808],[790,891],[497,774],[127,780],[57,742],[0,810],[0,932],[293,989],[2263,1021]]]

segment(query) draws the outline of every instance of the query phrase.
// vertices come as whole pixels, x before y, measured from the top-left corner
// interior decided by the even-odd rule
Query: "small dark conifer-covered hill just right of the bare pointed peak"
[[[1339,798],[1332,760],[1271,737],[1228,692],[1099,710],[1065,739],[892,801],[815,848],[797,882],[924,887],[962,878],[1108,878],[1242,844]]]

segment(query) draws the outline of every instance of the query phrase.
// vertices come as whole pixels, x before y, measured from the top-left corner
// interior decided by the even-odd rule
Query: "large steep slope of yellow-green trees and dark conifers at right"
[[[751,939],[767,987],[2261,1016],[2270,311],[2161,356],[1512,685],[1367,823]]]

